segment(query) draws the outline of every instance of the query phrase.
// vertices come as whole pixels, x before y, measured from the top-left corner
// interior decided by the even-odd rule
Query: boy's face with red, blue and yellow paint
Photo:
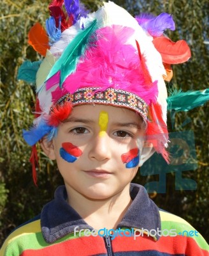
[[[59,125],[50,154],[68,191],[87,198],[117,195],[134,178],[143,136],[141,118],[129,109],[105,105],[73,108]]]

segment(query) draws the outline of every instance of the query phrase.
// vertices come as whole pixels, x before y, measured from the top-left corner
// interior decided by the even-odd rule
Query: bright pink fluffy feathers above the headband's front
[[[133,29],[116,25],[97,30],[96,42],[85,52],[76,72],[67,77],[63,87],[70,93],[86,86],[99,90],[111,87],[135,93],[147,104],[155,102],[157,81],[147,81],[138,52],[126,43],[131,35]],[[58,82],[59,74],[47,82],[47,89]]]

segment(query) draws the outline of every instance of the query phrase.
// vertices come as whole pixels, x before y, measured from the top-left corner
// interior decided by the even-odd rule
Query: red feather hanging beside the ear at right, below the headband
[[[165,145],[168,142],[168,129],[162,119],[162,109],[158,103],[150,104],[149,117],[147,139],[153,144],[157,153],[161,153],[162,157],[169,163],[169,154],[165,149]]]

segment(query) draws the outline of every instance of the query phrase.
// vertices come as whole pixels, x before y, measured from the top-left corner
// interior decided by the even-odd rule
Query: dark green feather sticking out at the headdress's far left
[[[36,83],[36,73],[41,65],[40,61],[31,62],[29,60],[24,61],[18,69],[17,79],[24,80],[27,83]]]

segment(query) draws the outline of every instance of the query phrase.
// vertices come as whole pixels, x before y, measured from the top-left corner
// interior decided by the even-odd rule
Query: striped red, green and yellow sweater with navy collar
[[[40,216],[8,236],[0,256],[209,255],[203,237],[187,221],[158,209],[143,186],[131,184],[130,195],[133,202],[117,232],[108,230],[104,236],[68,205],[61,186]]]

